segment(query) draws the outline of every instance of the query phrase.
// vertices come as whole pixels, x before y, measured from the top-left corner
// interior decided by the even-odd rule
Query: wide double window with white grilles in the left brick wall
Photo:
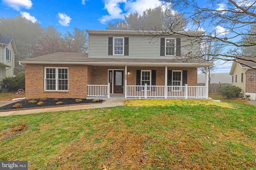
[[[45,90],[68,90],[68,68],[45,68]]]

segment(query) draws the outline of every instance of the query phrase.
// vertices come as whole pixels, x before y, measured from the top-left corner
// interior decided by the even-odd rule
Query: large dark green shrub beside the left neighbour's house
[[[19,88],[23,88],[25,86],[25,72],[19,72],[15,77],[6,77],[3,80],[3,84],[10,91],[17,91]]]

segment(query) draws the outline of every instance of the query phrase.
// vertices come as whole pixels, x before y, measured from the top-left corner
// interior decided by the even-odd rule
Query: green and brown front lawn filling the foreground
[[[242,100],[126,105],[0,117],[0,160],[27,160],[30,170],[256,170],[256,107]],[[25,131],[11,131],[20,124]]]

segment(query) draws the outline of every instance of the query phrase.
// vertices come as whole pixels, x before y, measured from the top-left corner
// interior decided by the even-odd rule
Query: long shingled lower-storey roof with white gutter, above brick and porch
[[[111,66],[185,66],[204,67],[213,63],[198,60],[182,59],[115,59],[115,58],[88,58],[88,53],[53,53],[19,61],[27,64],[86,64]]]

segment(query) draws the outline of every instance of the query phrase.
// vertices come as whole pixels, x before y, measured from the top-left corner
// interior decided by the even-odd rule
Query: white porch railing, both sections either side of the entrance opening
[[[206,86],[126,86],[126,98],[207,98]],[[108,85],[88,85],[88,97],[110,97]]]

